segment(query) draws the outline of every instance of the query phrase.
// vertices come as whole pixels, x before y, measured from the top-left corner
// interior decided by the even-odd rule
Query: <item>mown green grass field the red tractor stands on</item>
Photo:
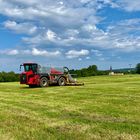
[[[0,140],[139,140],[140,76],[81,78],[85,86],[0,83]]]

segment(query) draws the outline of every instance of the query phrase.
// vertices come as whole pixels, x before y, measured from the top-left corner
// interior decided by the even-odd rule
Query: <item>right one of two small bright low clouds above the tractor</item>
[[[81,56],[86,56],[89,54],[88,50],[80,50],[80,51],[76,51],[76,50],[70,50],[66,53],[67,58],[72,59],[72,58],[77,58],[77,57],[81,57]]]

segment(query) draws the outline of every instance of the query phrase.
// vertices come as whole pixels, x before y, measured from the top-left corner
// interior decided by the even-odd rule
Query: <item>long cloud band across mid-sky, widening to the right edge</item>
[[[87,48],[116,49],[124,52],[140,49],[139,36],[134,33],[140,31],[140,20],[123,20],[108,26],[107,31],[97,28],[95,25],[86,24],[79,29],[64,30],[56,34],[48,30],[43,34],[34,37],[23,38],[28,44],[42,45],[51,42],[52,45],[61,46],[63,49],[74,46],[86,46]],[[102,56],[102,53],[96,52],[95,56]],[[71,57],[71,56],[70,56]]]

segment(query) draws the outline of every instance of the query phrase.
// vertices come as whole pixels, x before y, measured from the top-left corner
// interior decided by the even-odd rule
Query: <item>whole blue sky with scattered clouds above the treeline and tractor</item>
[[[0,71],[135,67],[139,54],[139,0],[0,0]]]

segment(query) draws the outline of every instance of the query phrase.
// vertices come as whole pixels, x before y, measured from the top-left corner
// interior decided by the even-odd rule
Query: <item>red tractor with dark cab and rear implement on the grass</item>
[[[29,85],[29,87],[41,86],[47,87],[51,84],[65,85],[83,85],[77,83],[75,79],[69,74],[69,69],[41,67],[37,63],[24,63],[20,65],[24,68],[24,72],[20,74],[20,84]]]

